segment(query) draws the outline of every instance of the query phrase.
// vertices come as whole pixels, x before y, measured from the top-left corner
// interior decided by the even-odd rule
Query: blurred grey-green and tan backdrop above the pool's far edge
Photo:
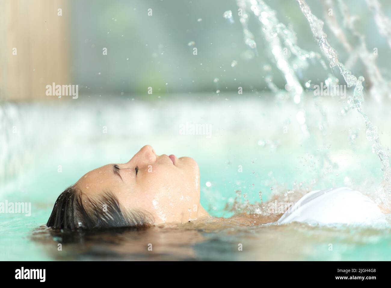
[[[296,1],[265,2],[296,32],[300,47],[320,52]],[[336,21],[340,27],[349,20],[341,13],[339,0],[307,2],[321,19]],[[378,67],[389,79],[391,52],[366,0],[343,3],[355,16],[355,28],[365,35],[368,50],[378,49]],[[391,16],[391,3],[380,3],[383,13]],[[188,95],[217,89],[237,92],[238,86],[247,92],[267,91],[265,64],[272,65],[274,83],[281,89],[285,85],[254,16],[249,18],[249,30],[257,47],[249,49],[244,43],[234,0],[2,0],[0,5],[2,99],[56,100],[45,94],[45,86],[52,82],[79,85],[81,97],[109,94],[148,99],[158,94]],[[332,16],[328,15],[330,7]],[[151,16],[148,9],[152,9]],[[228,10],[233,11],[233,23],[223,17]],[[325,25],[325,32],[340,59],[347,61],[358,47],[357,38],[344,31],[342,38],[350,43],[346,48],[329,25]],[[17,55],[13,55],[13,48],[17,48]],[[197,48],[197,55],[193,55],[193,48]],[[233,61],[236,64],[231,67]],[[320,68],[315,63],[303,71],[303,85],[308,80],[313,84],[323,81],[325,72]],[[361,61],[355,61],[352,69],[367,78]],[[213,82],[215,78],[218,83]],[[364,84],[371,85],[369,79]],[[154,94],[147,94],[148,87]]]

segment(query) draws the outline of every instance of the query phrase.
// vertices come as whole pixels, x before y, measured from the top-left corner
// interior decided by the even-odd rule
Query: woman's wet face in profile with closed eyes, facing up
[[[111,191],[124,210],[149,212],[156,225],[196,219],[200,208],[197,163],[188,157],[158,156],[149,145],[127,163],[86,173],[75,186],[90,199]]]

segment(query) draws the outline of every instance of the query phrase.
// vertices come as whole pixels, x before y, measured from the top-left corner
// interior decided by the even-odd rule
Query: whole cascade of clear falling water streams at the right
[[[266,83],[276,94],[276,97],[281,97],[281,95],[290,95],[293,98],[294,103],[298,105],[300,117],[298,117],[298,122],[301,125],[301,130],[305,134],[306,138],[309,137],[308,128],[306,126],[306,114],[303,110],[303,93],[306,88],[309,88],[311,83],[308,81],[305,83],[305,87],[300,83],[301,72],[309,67],[309,65],[316,65],[319,63],[321,67],[325,70],[326,79],[324,81],[325,86],[332,87],[332,85],[337,85],[339,80],[333,75],[333,72],[337,69],[343,76],[344,81],[346,82],[347,87],[352,87],[353,92],[349,93],[347,97],[348,107],[343,109],[343,112],[346,113],[350,109],[355,109],[359,114],[361,114],[362,119],[366,127],[366,138],[368,141],[372,141],[372,151],[377,155],[380,160],[381,169],[384,172],[384,179],[382,184],[377,187],[376,191],[373,192],[373,198],[378,203],[378,205],[389,210],[391,208],[391,168],[389,163],[389,156],[386,153],[386,149],[382,146],[380,142],[380,137],[377,131],[377,127],[369,119],[368,115],[364,112],[363,101],[364,101],[364,87],[362,82],[364,82],[363,76],[355,76],[352,71],[350,71],[343,63],[339,61],[338,54],[336,50],[330,45],[327,40],[327,35],[323,31],[324,22],[319,20],[310,10],[310,7],[304,0],[297,0],[301,12],[305,16],[310,26],[311,32],[314,36],[314,39],[319,45],[319,49],[323,56],[327,59],[329,63],[326,65],[321,54],[316,51],[306,51],[302,49],[298,43],[296,34],[294,33],[291,27],[287,27],[285,24],[281,23],[277,18],[277,12],[263,0],[237,0],[238,15],[240,19],[240,24],[242,25],[244,42],[250,49],[256,50],[256,42],[254,40],[254,35],[249,30],[248,21],[250,15],[253,14],[259,21],[260,29],[264,35],[264,39],[268,44],[269,52],[271,55],[271,63],[274,64],[278,70],[282,73],[285,78],[286,85],[285,90],[278,89],[277,85],[273,83],[273,78],[271,76],[271,66],[264,65],[263,70],[266,75]],[[376,65],[376,56],[369,52],[365,44],[365,37],[354,25],[354,16],[349,14],[348,7],[341,0],[337,0],[339,10],[344,15],[342,21],[344,27],[352,33],[357,39],[357,48],[354,48],[343,34],[343,29],[339,27],[337,21],[328,19],[327,25],[330,27],[332,33],[335,34],[337,39],[341,41],[343,47],[350,54],[350,59],[348,60],[349,67],[352,66],[357,58],[359,58],[364,67],[368,71],[368,77],[372,83],[371,95],[377,101],[381,101],[384,96],[390,96],[389,83],[381,75],[380,70]],[[369,9],[373,11],[375,22],[379,29],[379,32],[384,36],[389,45],[391,46],[391,21],[382,13],[380,4],[377,0],[366,0]],[[330,11],[330,5],[333,5],[333,0],[328,0],[324,4],[325,11]],[[224,13],[225,18],[230,18],[230,22],[233,23],[231,11],[226,11]],[[290,54],[294,57],[291,59],[288,56],[287,49]],[[255,51],[256,52],[256,51]],[[255,53],[256,54],[256,53]],[[307,90],[308,91],[308,90]],[[316,104],[319,113],[321,114],[321,119],[323,121],[322,127],[327,127],[327,116],[324,109],[318,103]],[[302,121],[300,121],[302,119]],[[319,159],[330,159],[328,153],[323,155],[317,155]],[[328,161],[330,165],[333,165],[331,161]]]

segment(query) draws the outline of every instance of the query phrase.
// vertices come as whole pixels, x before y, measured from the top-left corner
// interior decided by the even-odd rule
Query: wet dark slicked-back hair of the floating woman
[[[58,196],[46,225],[64,231],[147,228],[153,225],[153,219],[148,213],[139,210],[124,212],[117,197],[110,191],[104,192],[95,201],[86,195],[82,199],[81,190],[70,186]]]

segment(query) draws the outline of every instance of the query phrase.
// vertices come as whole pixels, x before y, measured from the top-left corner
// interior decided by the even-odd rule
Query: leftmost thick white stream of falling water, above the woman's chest
[[[310,64],[319,64],[325,71],[327,75],[324,80],[326,86],[331,87],[332,85],[337,85],[339,83],[339,80],[328,69],[328,65],[326,65],[321,54],[301,48],[298,45],[296,33],[293,29],[291,27],[288,28],[285,24],[280,22],[276,16],[276,11],[271,9],[263,0],[238,0],[237,5],[243,11],[242,16],[240,17],[240,23],[242,24],[245,43],[248,43],[249,39],[254,39],[253,34],[248,28],[249,15],[247,12],[251,11],[259,21],[260,30],[265,35],[265,40],[269,44],[270,54],[273,55],[271,61],[276,63],[277,68],[282,72],[286,80],[285,91],[279,89],[273,82],[271,65],[264,65],[265,82],[269,89],[276,95],[278,101],[285,100],[287,98],[286,95],[291,95],[294,103],[300,104],[299,107],[303,109],[303,101],[301,101],[301,98],[304,89],[310,88],[310,81],[307,80],[305,88],[303,88],[299,79],[302,78],[301,75],[303,74],[303,71],[308,69]],[[302,112],[303,110],[298,113]],[[326,118],[326,112],[324,110],[319,110],[319,113],[321,114],[322,119]],[[302,116],[300,119],[303,120],[299,122],[301,131],[303,132],[302,135],[304,138],[308,139],[310,132],[307,126],[305,113],[300,114],[300,116]],[[325,123],[319,125],[319,127],[326,126]],[[326,141],[325,137],[323,137],[323,141]],[[334,167],[335,163],[330,161],[328,149],[322,149],[322,151],[323,153],[318,155],[319,163],[325,163],[327,166],[331,165]],[[330,169],[328,168],[323,170],[330,172]]]

